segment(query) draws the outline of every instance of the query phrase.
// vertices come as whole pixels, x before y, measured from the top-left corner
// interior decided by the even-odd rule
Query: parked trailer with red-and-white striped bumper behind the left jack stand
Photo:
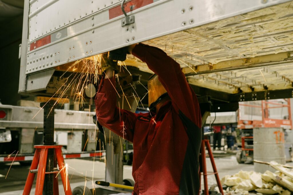
[[[64,158],[104,156],[96,151],[94,114],[55,109],[54,142],[64,146]],[[43,115],[41,108],[0,104],[0,163],[33,159],[33,146],[43,143]]]

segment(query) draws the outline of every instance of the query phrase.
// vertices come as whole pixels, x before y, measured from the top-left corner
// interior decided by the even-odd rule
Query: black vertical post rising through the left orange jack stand
[[[48,101],[44,105],[44,145],[54,145],[54,103],[55,101]],[[48,149],[48,158],[46,172],[53,171],[54,169],[54,149]],[[43,193],[46,195],[53,195],[53,174],[45,175]]]

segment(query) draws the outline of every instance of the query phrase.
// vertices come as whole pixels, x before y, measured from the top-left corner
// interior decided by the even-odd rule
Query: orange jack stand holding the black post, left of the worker
[[[37,174],[35,195],[42,195],[43,194],[45,174],[53,174],[54,175],[54,181],[53,181],[54,195],[59,195],[58,178],[57,178],[58,173],[61,175],[65,195],[72,195],[68,176],[67,176],[67,173],[65,170],[66,167],[65,167],[65,163],[64,163],[62,150],[61,150],[62,146],[60,146],[60,145],[51,145],[51,146],[50,145],[49,146],[37,145],[37,146],[34,146],[34,148],[36,149],[35,155],[33,157],[33,161],[30,166],[30,171],[28,172],[28,178],[26,179],[26,182],[25,182],[23,195],[30,194],[30,190],[32,188],[36,172],[38,172],[38,174]],[[46,172],[48,149],[51,149],[51,148],[54,149],[55,159],[57,159],[60,171],[55,170],[55,171],[51,171],[51,172]],[[39,165],[39,168],[38,168],[38,165]],[[57,163],[56,163],[56,166],[57,166]],[[37,168],[38,168],[38,170],[36,171]]]

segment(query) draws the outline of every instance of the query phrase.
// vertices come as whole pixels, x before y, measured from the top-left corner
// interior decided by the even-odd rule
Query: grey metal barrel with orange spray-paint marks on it
[[[253,129],[253,159],[258,161],[276,161],[285,164],[285,139],[282,128],[254,128]],[[270,165],[254,163],[256,172],[266,170],[275,172]]]

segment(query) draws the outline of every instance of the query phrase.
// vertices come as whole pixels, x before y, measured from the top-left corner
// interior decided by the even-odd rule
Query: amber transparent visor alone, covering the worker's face
[[[159,97],[165,93],[167,93],[166,89],[163,87],[161,82],[159,81],[158,75],[153,75],[148,83],[147,87],[149,90],[149,107],[151,106],[152,103],[154,103]],[[157,102],[159,103],[159,102]],[[156,105],[152,105],[156,106]]]

